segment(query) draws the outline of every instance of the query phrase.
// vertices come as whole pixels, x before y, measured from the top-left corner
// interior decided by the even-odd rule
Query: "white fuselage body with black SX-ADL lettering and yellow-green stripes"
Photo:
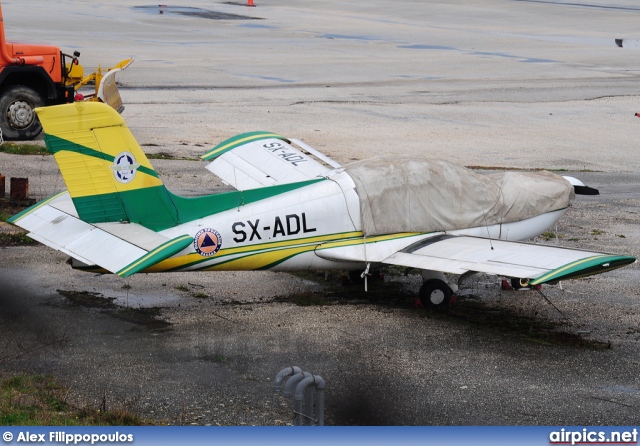
[[[512,223],[448,231],[500,240],[533,238],[551,227],[561,209]],[[360,203],[355,184],[341,170],[325,181],[205,218],[161,233],[168,238],[196,235],[203,228],[217,231],[222,249],[211,257],[198,255],[194,246],[174,258],[174,270],[203,269],[357,269],[425,238],[443,232],[389,234],[363,237]],[[365,243],[366,241],[366,243]],[[326,248],[326,249],[325,249]],[[339,255],[334,253],[339,252]],[[337,260],[339,259],[339,260]]]

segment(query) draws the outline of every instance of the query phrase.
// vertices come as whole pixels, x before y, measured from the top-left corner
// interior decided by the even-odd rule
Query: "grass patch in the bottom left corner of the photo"
[[[3,426],[139,426],[148,424],[125,410],[77,408],[69,388],[48,375],[14,375],[0,381]]]

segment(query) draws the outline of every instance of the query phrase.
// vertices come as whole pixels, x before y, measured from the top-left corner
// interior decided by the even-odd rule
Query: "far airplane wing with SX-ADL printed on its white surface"
[[[292,143],[306,153],[296,149]],[[207,169],[238,190],[312,180],[340,167],[340,164],[303,142],[270,132],[235,136],[209,150],[201,158],[213,160]]]

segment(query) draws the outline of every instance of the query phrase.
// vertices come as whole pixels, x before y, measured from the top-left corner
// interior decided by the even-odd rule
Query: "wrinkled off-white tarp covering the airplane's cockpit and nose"
[[[509,223],[564,209],[573,186],[546,171],[482,175],[439,159],[387,156],[348,164],[365,235]]]

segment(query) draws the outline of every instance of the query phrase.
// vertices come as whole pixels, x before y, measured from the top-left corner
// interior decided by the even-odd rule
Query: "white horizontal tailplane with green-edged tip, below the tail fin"
[[[171,257],[193,243],[174,239],[135,223],[89,224],[78,218],[68,192],[61,192],[9,219],[27,235],[87,265],[128,277]]]

